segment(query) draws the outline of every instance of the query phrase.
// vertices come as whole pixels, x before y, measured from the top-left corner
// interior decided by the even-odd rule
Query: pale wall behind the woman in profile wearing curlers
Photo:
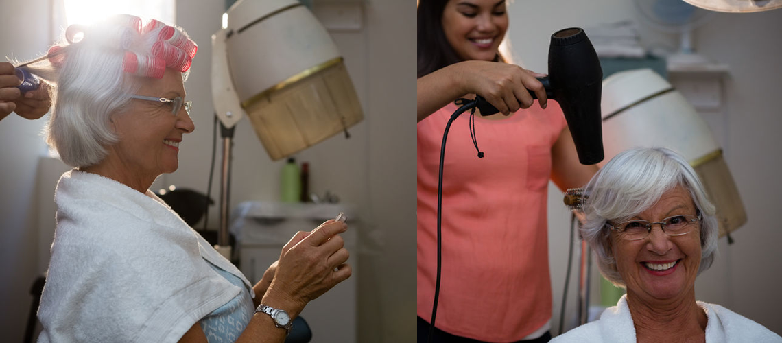
[[[330,0],[316,1],[328,3]],[[310,163],[310,190],[332,191],[358,205],[362,248],[359,283],[359,341],[414,340],[415,282],[415,135],[414,7],[404,2],[356,0],[363,8],[361,30],[332,32],[357,89],[364,121],[343,135],[296,155]],[[52,43],[50,2],[2,0],[0,52],[27,58]],[[196,130],[185,135],[176,173],[156,184],[175,184],[206,192],[212,139],[210,36],[220,26],[222,1],[178,2],[177,22],[199,44],[185,84],[194,101]],[[37,24],[32,24],[37,23]],[[23,28],[23,29],[22,29]],[[409,115],[408,115],[409,113]],[[9,116],[0,122],[0,329],[8,341],[20,341],[30,306],[29,288],[38,274],[38,213],[33,205],[38,155],[45,144],[38,131],[44,120]],[[277,200],[283,162],[271,162],[242,120],[235,133],[231,204]],[[217,154],[220,163],[220,153]],[[217,199],[216,168],[213,198]],[[217,206],[209,227],[217,227]],[[358,225],[357,225],[358,226]],[[304,228],[303,228],[304,229]],[[317,336],[316,336],[317,338]],[[328,338],[321,336],[318,341]]]

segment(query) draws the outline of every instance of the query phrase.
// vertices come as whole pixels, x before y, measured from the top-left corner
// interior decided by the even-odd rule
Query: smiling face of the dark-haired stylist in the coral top
[[[443,32],[463,60],[492,61],[508,30],[505,0],[449,0]]]

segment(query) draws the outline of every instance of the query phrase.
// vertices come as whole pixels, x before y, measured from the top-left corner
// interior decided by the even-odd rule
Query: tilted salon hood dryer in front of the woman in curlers
[[[364,119],[337,46],[297,0],[239,0],[212,48],[217,117],[231,128],[246,113],[273,160]]]

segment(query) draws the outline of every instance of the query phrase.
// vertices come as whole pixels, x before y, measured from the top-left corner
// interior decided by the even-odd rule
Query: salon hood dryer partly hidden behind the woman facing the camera
[[[676,88],[649,69],[612,74],[603,82],[605,161],[629,148],[661,146],[690,163],[717,209],[719,237],[747,222],[744,203],[730,175],[723,150]]]

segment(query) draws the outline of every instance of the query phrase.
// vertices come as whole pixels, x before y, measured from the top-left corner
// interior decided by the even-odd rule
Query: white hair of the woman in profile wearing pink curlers
[[[72,26],[66,31],[66,38],[49,50],[46,63],[28,67],[54,86],[52,113],[45,135],[48,145],[59,153],[64,163],[85,167],[106,158],[106,147],[119,140],[109,126],[111,116],[123,112],[131,99],[127,95],[135,94],[144,82],[152,80],[144,73],[152,63],[143,61],[148,57],[154,60],[152,46],[160,41],[160,32],[166,27],[152,20],[142,30],[141,20],[127,15],[114,16],[90,27]],[[180,27],[174,30],[177,38],[184,36],[192,43]],[[72,41],[71,31],[83,34],[81,41]],[[59,53],[52,54],[53,51]],[[126,71],[128,53],[143,59],[136,73]],[[183,80],[189,73],[190,59],[187,61],[186,67],[174,67],[184,70],[179,70],[183,72]],[[163,63],[163,71],[165,67],[171,66]],[[161,68],[156,70],[162,76]]]

